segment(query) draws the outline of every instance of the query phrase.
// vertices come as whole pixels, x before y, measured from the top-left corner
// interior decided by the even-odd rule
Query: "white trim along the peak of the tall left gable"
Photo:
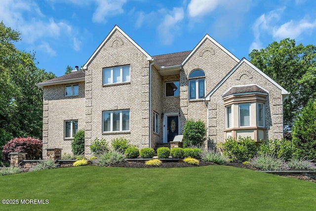
[[[88,64],[91,62],[91,60],[94,58],[94,56],[100,51],[100,49],[103,47],[105,42],[107,42],[112,34],[118,30],[129,42],[131,42],[135,47],[137,47],[146,57],[147,60],[152,60],[152,57],[143,49],[141,48],[135,41],[133,41],[123,30],[121,30],[118,25],[115,25],[114,28],[111,30],[111,32],[108,34],[108,36],[101,42],[101,44],[97,47],[97,49],[93,52],[93,54],[90,56],[88,61],[84,64],[83,69],[87,69]]]

